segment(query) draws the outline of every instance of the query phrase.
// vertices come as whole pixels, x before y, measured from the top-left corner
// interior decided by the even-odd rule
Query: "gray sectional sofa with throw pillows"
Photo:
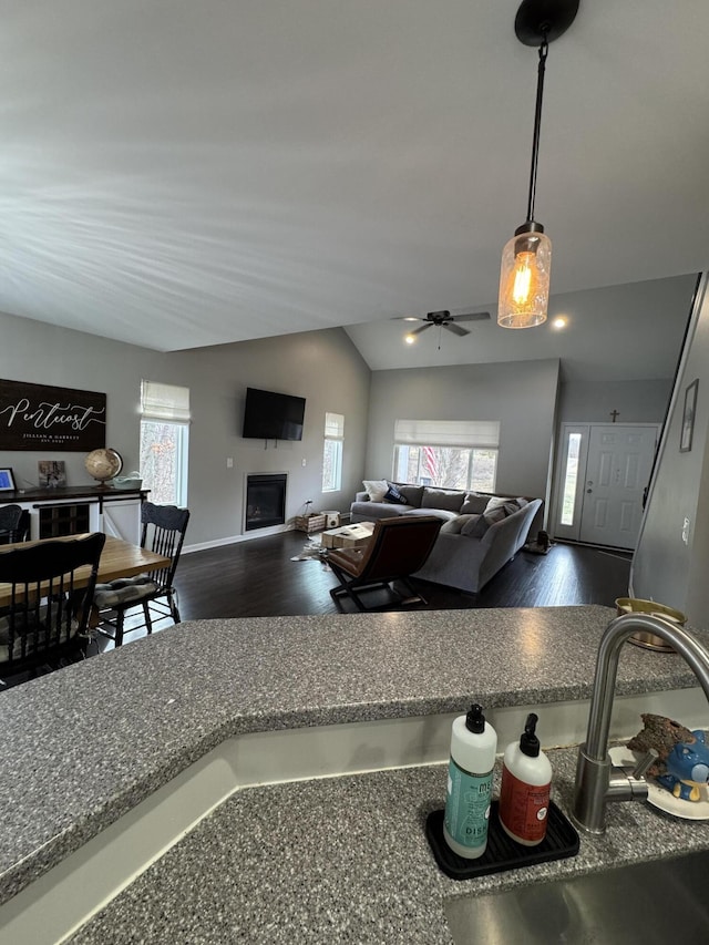
[[[387,497],[381,483],[387,484]],[[425,565],[413,576],[476,594],[542,526],[541,499],[492,495],[379,481],[358,492],[350,521],[376,522],[394,515],[444,518]]]

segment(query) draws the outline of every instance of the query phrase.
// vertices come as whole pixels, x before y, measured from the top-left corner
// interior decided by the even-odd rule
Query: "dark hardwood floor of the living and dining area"
[[[338,583],[330,568],[319,558],[292,561],[307,544],[304,533],[284,532],[183,554],[175,579],[183,622],[340,613],[330,597],[330,588]],[[578,604],[613,607],[616,597],[628,594],[629,572],[627,553],[557,543],[547,555],[520,552],[476,596],[414,582],[427,599],[424,607],[415,606],[429,610]],[[376,603],[387,599],[380,596]],[[354,612],[351,603],[346,600],[343,606]],[[145,636],[143,627],[131,629],[141,622],[142,615],[132,620],[129,613],[124,646]],[[164,618],[154,624],[154,630],[171,626],[172,619]],[[90,653],[112,647],[112,640],[100,637]],[[6,679],[6,684],[17,685],[25,678]]]

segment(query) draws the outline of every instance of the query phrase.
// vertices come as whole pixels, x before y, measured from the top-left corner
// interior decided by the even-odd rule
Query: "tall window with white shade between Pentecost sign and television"
[[[187,505],[189,388],[141,382],[141,475],[157,505]]]

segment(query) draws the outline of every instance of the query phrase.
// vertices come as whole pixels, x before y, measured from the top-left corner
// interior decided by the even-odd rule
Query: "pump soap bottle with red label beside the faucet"
[[[517,843],[536,846],[546,835],[552,766],[536,737],[538,719],[530,712],[520,742],[505,749],[500,789],[500,823]]]

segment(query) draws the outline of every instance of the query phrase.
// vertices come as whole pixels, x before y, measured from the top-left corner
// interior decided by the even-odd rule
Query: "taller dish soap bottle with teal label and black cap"
[[[459,716],[451,733],[443,836],[454,853],[466,860],[482,856],[487,845],[492,771],[497,733],[485,721],[482,706]]]

